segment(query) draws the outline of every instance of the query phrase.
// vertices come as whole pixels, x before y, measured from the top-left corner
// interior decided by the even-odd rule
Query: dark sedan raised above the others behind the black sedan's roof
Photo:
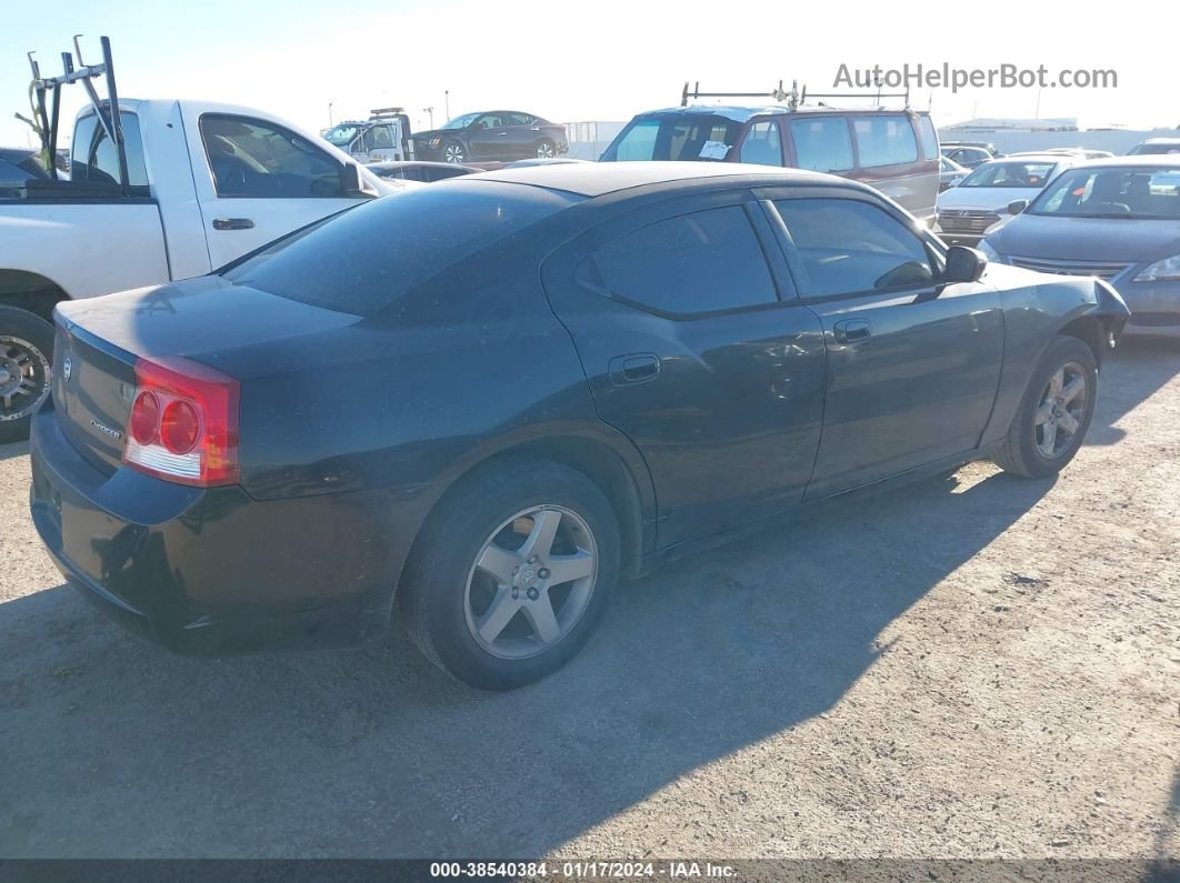
[[[414,156],[464,164],[473,159],[557,157],[570,149],[565,126],[520,111],[465,113],[441,129],[414,133]]]

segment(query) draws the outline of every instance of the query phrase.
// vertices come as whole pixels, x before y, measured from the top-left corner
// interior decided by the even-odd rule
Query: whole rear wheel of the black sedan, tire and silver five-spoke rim
[[[442,671],[479,690],[514,690],[585,645],[618,562],[618,522],[594,482],[558,463],[505,461],[465,481],[432,514],[399,605],[414,643]]]

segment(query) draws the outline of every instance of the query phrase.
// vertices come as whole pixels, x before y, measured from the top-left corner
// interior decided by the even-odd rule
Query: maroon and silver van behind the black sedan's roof
[[[598,158],[792,166],[872,184],[923,220],[939,187],[938,133],[914,111],[688,105],[636,116]]]

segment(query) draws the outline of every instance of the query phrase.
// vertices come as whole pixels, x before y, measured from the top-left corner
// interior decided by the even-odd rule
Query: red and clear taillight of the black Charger
[[[136,362],[123,462],[199,487],[237,482],[238,384],[184,358]]]

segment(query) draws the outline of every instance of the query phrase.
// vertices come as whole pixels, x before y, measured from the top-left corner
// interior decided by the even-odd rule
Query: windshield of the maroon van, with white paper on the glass
[[[602,162],[719,162],[727,157],[741,129],[741,123],[713,113],[638,117],[607,147]]]

